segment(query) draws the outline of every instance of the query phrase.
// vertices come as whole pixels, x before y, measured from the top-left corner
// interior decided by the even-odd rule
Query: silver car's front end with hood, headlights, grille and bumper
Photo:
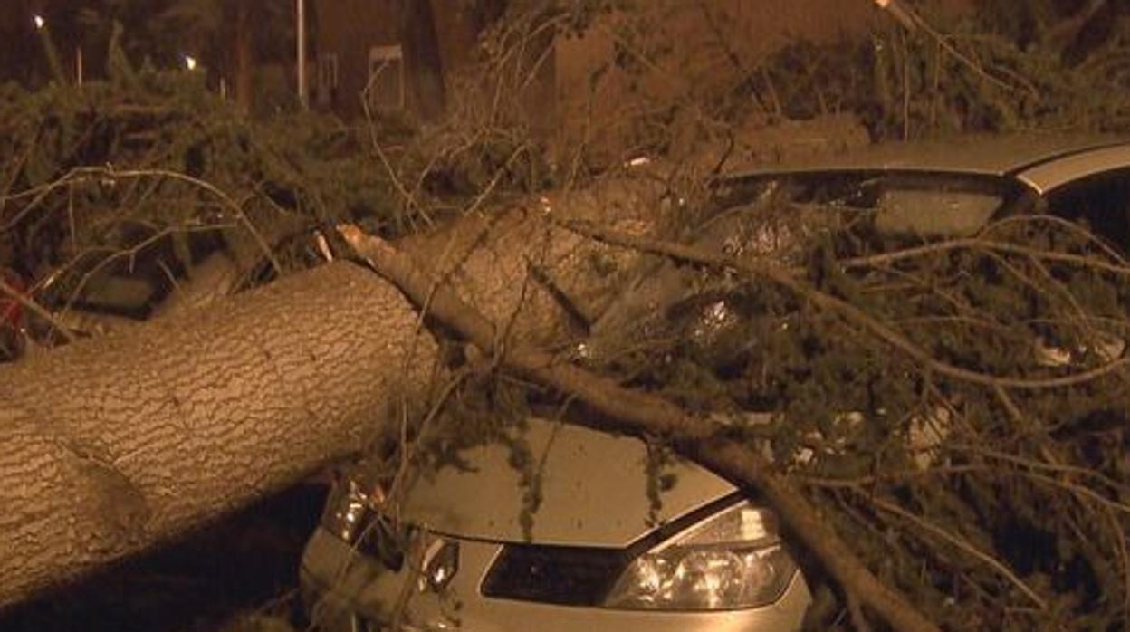
[[[415,528],[399,537],[372,521],[371,490],[341,484],[303,557],[311,620],[341,631],[398,617],[428,631],[798,629],[808,588],[756,501],[677,462],[653,505],[643,442],[525,426],[540,507],[524,527],[530,488],[501,444],[420,477],[400,514]]]

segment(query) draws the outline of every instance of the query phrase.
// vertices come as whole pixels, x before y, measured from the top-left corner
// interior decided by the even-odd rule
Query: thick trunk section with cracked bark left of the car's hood
[[[348,263],[0,369],[0,606],[357,450],[436,357]]]

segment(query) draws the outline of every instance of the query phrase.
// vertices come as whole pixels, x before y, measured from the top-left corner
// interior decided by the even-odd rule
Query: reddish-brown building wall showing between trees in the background
[[[339,84],[332,99],[336,112],[346,116],[360,113],[359,94],[367,80],[370,46],[402,42],[400,11],[405,2],[412,1],[315,0],[319,55],[338,58]],[[441,70],[450,85],[473,58],[478,25],[463,3],[428,1]],[[935,1],[965,10],[975,0]],[[644,17],[654,24],[650,34],[654,42],[669,42],[675,50],[673,55],[660,60],[652,85],[645,87],[654,92],[684,89],[687,83],[709,89],[712,78],[730,76],[716,72],[719,64],[737,60],[756,67],[759,59],[791,40],[827,42],[860,36],[877,20],[888,19],[872,0],[647,0],[641,7]],[[597,110],[609,111],[610,103],[624,103],[623,78],[606,72],[609,60],[617,54],[617,43],[610,35],[615,28],[607,26],[615,26],[620,18],[614,15],[608,19],[611,23],[606,27],[598,24],[583,37],[558,41],[555,53],[530,83],[530,94],[520,95],[527,109],[537,114],[536,127],[553,128],[563,116],[590,116]],[[412,67],[412,60],[407,60],[406,68]],[[601,76],[599,81],[593,80],[597,75]],[[420,90],[412,89],[412,77],[406,76],[406,80],[407,106],[419,109],[416,93]]]

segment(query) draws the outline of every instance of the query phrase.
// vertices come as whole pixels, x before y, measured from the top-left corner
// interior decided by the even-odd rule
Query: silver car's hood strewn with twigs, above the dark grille
[[[537,418],[514,436],[540,477],[529,533],[538,544],[627,546],[654,528],[650,518],[668,521],[736,490],[694,464],[666,458],[659,473],[673,485],[660,492],[653,514],[642,441]],[[417,477],[402,517],[440,534],[527,542],[521,517],[530,487],[512,465],[514,453],[502,444],[460,452],[459,466]]]

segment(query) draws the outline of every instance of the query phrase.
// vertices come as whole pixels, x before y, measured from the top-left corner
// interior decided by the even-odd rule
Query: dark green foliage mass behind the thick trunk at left
[[[94,269],[156,258],[176,275],[224,250],[247,275],[268,260],[278,272],[316,257],[295,237],[318,226],[408,224],[356,130],[306,114],[249,120],[195,73],[123,64],[108,81],[2,92],[0,250],[52,279],[54,300]]]

